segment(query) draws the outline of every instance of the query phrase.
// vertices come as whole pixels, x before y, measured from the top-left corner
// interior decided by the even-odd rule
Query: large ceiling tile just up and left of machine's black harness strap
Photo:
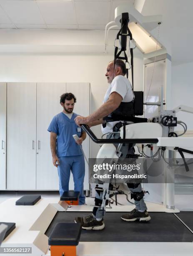
[[[102,25],[109,22],[110,2],[75,2],[78,24]]]

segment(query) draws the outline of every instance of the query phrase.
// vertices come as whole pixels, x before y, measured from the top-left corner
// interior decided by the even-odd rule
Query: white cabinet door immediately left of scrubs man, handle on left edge
[[[37,164],[36,189],[59,189],[58,169],[53,166],[48,126],[62,112],[60,96],[65,83],[37,83]]]

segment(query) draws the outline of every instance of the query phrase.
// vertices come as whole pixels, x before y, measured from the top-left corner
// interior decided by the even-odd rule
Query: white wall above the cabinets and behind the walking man
[[[103,102],[108,84],[106,66],[113,56],[108,55],[28,55],[0,56],[1,82],[90,82],[91,113]],[[139,66],[141,64],[141,67]],[[137,67],[137,65],[139,67]],[[141,76],[139,75],[139,70]],[[135,90],[142,90],[143,61],[136,59]],[[59,99],[60,95],[58,95]],[[100,127],[93,128],[101,136]],[[91,156],[95,157],[99,146],[92,143]]]

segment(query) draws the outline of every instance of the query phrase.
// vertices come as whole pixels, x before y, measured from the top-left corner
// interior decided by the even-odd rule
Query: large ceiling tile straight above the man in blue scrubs
[[[47,24],[76,24],[72,1],[37,1]]]

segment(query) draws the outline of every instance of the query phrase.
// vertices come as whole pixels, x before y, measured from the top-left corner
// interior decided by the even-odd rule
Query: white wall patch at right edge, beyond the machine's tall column
[[[171,79],[172,107],[187,105],[193,108],[193,62],[172,66]],[[193,114],[179,112],[177,117],[188,125],[188,130],[193,130]],[[183,130],[180,125],[177,129]]]

